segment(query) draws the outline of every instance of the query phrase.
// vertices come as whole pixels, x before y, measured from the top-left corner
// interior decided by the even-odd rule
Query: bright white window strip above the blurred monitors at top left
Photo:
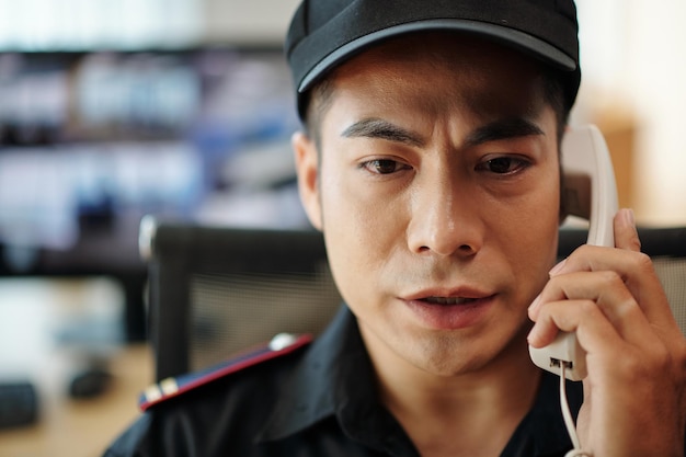
[[[187,47],[202,14],[196,0],[0,0],[0,50]]]

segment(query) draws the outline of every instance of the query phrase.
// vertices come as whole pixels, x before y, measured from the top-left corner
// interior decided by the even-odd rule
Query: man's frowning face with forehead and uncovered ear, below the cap
[[[371,357],[454,375],[525,351],[560,201],[535,64],[432,36],[377,47],[332,78],[321,150],[296,139],[298,172]]]

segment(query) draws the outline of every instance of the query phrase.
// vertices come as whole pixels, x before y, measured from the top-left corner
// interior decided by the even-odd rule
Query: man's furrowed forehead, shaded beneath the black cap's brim
[[[427,34],[426,43],[418,35],[396,38],[361,54],[331,75],[333,91],[361,93],[365,102],[371,96],[389,107],[414,95],[416,105],[450,104],[484,118],[542,110],[545,78],[536,61],[482,39],[443,35]],[[434,43],[443,46],[426,52]],[[443,92],[432,93],[433,85]],[[395,92],[403,88],[409,90]]]

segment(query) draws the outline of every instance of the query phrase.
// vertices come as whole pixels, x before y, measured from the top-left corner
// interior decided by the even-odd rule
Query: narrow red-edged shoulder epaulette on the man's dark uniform
[[[211,382],[215,379],[226,377],[272,358],[289,354],[299,347],[309,344],[311,341],[311,335],[297,336],[289,333],[279,333],[274,336],[268,344],[264,344],[256,349],[253,347],[252,350],[249,350],[245,353],[218,365],[214,365],[197,373],[165,378],[153,384],[140,395],[140,398],[138,399],[138,407],[141,411],[146,411],[148,408],[157,403],[196,389]]]

